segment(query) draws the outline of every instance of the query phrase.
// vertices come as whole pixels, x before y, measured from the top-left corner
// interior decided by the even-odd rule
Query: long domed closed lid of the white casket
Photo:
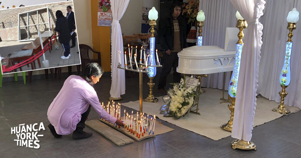
[[[224,51],[216,45],[204,45],[204,46],[192,46],[184,48],[178,53],[178,56],[182,57],[213,57],[233,55],[233,51]]]

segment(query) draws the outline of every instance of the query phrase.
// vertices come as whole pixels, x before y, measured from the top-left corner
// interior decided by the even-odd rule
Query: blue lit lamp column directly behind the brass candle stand
[[[147,70],[149,73],[147,73],[148,77],[150,78],[150,82],[147,83],[150,87],[150,93],[148,94],[148,97],[143,99],[143,101],[147,102],[157,102],[158,99],[154,97],[153,95],[153,87],[155,84],[153,83],[154,76],[156,76],[156,67],[152,67],[152,65],[155,64],[155,30],[154,27],[157,26],[156,20],[158,19],[158,11],[156,10],[155,7],[153,7],[149,12],[148,12],[148,19],[150,20],[149,25],[151,26],[151,38],[150,38],[150,56],[147,65]]]

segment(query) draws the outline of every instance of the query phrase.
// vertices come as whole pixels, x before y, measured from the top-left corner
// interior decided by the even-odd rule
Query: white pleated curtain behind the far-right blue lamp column
[[[259,87],[257,93],[265,98],[280,102],[281,91],[279,75],[284,63],[285,43],[289,33],[287,14],[293,8],[301,11],[300,0],[267,0],[265,14],[261,21],[264,24],[262,36],[262,58],[259,64]],[[284,103],[301,108],[301,25],[293,31],[293,48],[291,53],[291,82]],[[289,107],[288,107],[289,109]]]

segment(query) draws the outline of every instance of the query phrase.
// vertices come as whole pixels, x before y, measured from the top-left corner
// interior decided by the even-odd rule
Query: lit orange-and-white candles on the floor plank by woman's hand
[[[107,106],[104,106],[104,103],[101,104],[101,107],[106,109],[107,113],[109,113],[111,116],[115,117],[116,119],[121,120],[120,116],[120,104],[118,103],[115,107],[115,102],[110,105],[110,102],[107,104]],[[125,115],[126,114],[126,115]],[[138,117],[141,119],[138,120]],[[145,132],[148,132],[148,135],[151,135],[155,133],[155,124],[156,124],[156,115],[154,115],[154,119],[150,119],[150,129],[148,129],[147,123],[148,123],[148,115],[147,118],[144,116],[144,113],[140,113],[140,116],[137,112],[137,117],[133,119],[133,111],[132,114],[130,115],[129,113],[126,113],[126,110],[124,110],[123,113],[123,123],[124,126],[123,128],[126,128],[129,130],[129,132],[133,133],[135,135],[136,131],[136,136],[140,138],[140,132],[142,133],[142,137],[144,136]],[[144,117],[143,117],[144,116]],[[103,118],[101,118],[103,119]],[[145,122],[146,121],[146,122]],[[117,128],[117,124],[113,124]],[[120,128],[120,126],[118,126]]]

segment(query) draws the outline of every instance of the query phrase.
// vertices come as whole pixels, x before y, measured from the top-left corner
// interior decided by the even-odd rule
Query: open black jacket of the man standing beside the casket
[[[158,39],[164,51],[173,50],[173,44],[174,44],[174,28],[172,22],[173,19],[174,18],[172,17],[172,15],[170,15],[166,19],[160,20]],[[178,17],[177,20],[179,22],[179,27],[180,27],[180,38],[181,38],[182,48],[187,48],[188,46],[186,42],[187,40],[186,23],[180,17]]]

